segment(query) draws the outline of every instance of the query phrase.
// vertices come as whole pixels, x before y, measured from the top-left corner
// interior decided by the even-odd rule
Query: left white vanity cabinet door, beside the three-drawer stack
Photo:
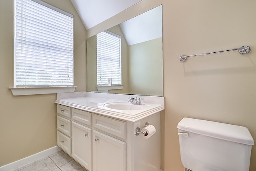
[[[92,171],[92,129],[72,121],[72,157]]]

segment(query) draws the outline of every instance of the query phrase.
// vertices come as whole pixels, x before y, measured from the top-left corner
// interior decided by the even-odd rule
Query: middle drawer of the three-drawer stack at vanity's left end
[[[57,129],[61,131],[62,133],[70,136],[71,135],[71,121],[61,117],[57,116]]]

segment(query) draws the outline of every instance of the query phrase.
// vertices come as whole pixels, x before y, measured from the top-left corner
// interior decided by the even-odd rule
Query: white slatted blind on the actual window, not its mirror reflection
[[[73,15],[15,0],[14,86],[73,86]]]

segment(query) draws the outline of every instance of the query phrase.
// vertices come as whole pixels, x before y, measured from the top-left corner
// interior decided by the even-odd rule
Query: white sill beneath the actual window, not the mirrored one
[[[35,95],[53,93],[73,93],[76,86],[68,87],[9,87],[12,95]]]

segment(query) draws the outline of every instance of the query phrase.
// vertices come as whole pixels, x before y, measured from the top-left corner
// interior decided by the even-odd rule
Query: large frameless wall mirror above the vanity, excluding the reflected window
[[[87,38],[87,91],[163,96],[162,5],[108,32],[121,37],[122,86],[97,85],[96,35]]]

